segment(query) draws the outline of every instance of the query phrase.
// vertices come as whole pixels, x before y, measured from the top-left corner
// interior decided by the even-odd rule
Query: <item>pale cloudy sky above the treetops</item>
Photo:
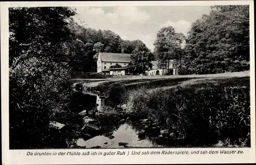
[[[185,36],[191,23],[208,14],[210,6],[75,7],[75,20],[86,28],[111,30],[123,40],[141,40],[153,50],[158,31],[173,26]]]

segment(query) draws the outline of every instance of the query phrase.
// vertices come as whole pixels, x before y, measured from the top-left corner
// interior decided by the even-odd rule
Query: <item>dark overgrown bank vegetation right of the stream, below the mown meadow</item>
[[[228,140],[229,144],[248,146],[249,96],[248,87],[204,84],[132,90],[126,98],[138,116],[158,120],[192,144],[212,145]]]

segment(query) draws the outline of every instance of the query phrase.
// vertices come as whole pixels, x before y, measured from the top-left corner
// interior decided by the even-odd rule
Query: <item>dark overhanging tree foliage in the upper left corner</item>
[[[39,56],[54,54],[59,60],[58,50],[70,37],[67,25],[74,14],[66,7],[9,8],[9,63],[28,50],[37,50]]]

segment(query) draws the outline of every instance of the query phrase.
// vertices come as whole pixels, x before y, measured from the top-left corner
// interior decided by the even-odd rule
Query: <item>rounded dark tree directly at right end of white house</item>
[[[140,41],[136,41],[135,49],[131,55],[131,66],[135,73],[142,73],[148,68],[152,68],[152,54],[146,45]]]

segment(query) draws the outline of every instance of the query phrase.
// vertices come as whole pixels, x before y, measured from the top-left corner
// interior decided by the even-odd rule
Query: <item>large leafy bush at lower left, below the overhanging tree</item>
[[[14,65],[10,65],[11,149],[49,145],[49,121],[66,108],[70,94],[68,72],[64,64],[57,64],[49,58],[30,57],[28,54],[23,54],[15,59]]]

